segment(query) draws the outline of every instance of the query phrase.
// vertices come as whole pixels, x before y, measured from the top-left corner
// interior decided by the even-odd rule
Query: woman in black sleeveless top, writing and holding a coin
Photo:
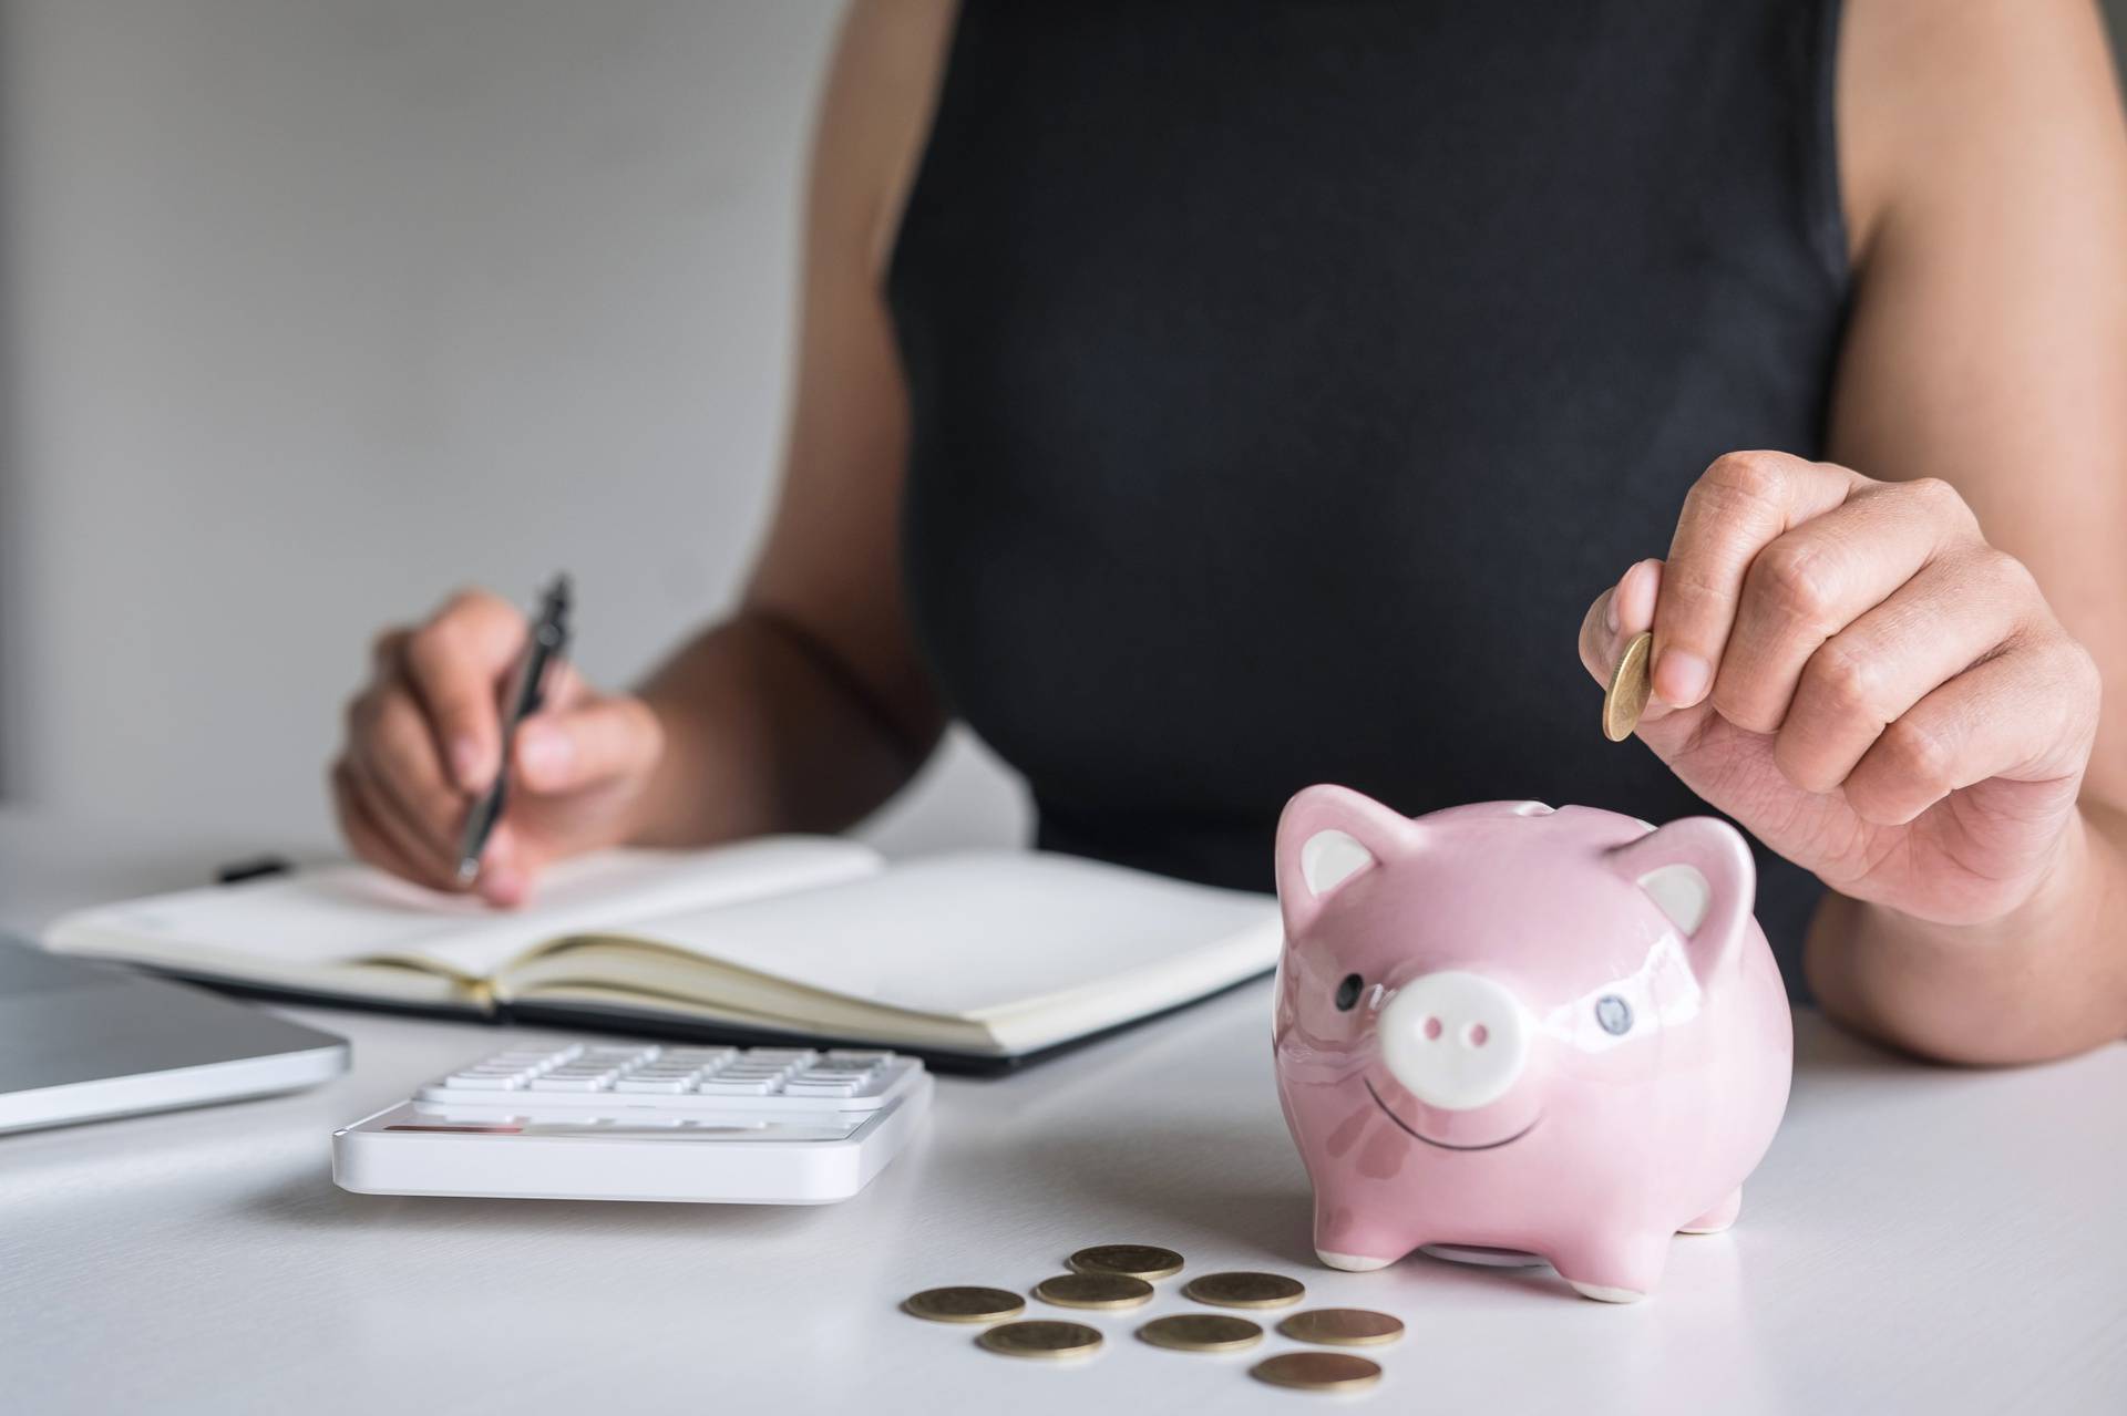
[[[2127,1033],[2095,9],[1553,9],[859,0],[744,604],[525,725],[476,889],[844,827],[959,714],[1042,844],[1227,884],[1314,780],[1712,806],[1836,1018]],[[1642,629],[1651,753],[1582,676]],[[362,857],[453,884],[521,638],[485,593],[383,636]]]

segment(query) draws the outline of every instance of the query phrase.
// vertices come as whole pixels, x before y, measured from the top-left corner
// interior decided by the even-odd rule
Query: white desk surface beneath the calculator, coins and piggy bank
[[[0,812],[0,921],[200,878],[234,844]],[[1544,1269],[1319,1267],[1266,984],[1019,1078],[944,1080],[927,1135],[817,1210],[342,1193],[332,1129],[502,1033],[291,1012],[353,1040],[347,1078],[0,1137],[0,1407],[2127,1410],[2127,1046],[1946,1072],[1799,1018],[1742,1223],[1678,1240],[1663,1288],[1612,1308]],[[1410,1331],[1372,1395],[1319,1397],[1249,1380],[1293,1346],[1276,1335],[1234,1356],[1136,1342],[1183,1308],[1174,1282],[1093,1316],[1108,1344],[1074,1367],[895,1312],[932,1284],[1025,1288],[1095,1242],[1293,1274]]]

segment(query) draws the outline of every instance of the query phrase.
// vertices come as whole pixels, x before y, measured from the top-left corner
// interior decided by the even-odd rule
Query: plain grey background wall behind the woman
[[[321,838],[381,621],[568,566],[619,682],[727,604],[834,17],[0,0],[0,791]],[[961,740],[878,831],[1023,825]]]

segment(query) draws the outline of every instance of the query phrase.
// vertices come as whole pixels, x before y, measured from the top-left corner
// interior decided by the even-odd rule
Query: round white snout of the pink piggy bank
[[[1521,999],[1466,972],[1412,978],[1376,1021],[1389,1076],[1446,1112],[1489,1106],[1512,1091],[1529,1061],[1529,1027]]]

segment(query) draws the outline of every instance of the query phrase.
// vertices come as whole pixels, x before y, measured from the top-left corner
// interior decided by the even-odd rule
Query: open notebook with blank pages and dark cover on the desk
[[[1276,963],[1276,906],[1061,855],[836,838],[608,850],[521,910],[362,865],[83,910],[60,953],[255,991],[1012,1065]]]

